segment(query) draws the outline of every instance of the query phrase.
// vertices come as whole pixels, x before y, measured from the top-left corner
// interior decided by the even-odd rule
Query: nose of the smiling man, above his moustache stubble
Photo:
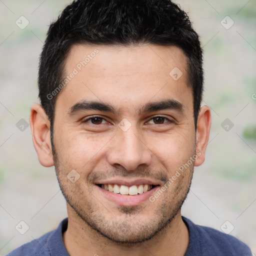
[[[140,164],[149,165],[151,163],[152,152],[142,141],[136,129],[130,127],[123,131],[119,129],[111,139],[108,148],[107,160],[111,165],[120,164],[126,170],[134,170]]]

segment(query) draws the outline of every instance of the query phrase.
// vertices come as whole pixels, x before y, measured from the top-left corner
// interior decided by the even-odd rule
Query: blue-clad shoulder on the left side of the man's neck
[[[20,247],[12,250],[6,256],[49,256],[54,255],[52,252],[56,249],[64,252],[64,244],[62,240],[62,230],[67,225],[67,218],[63,219],[58,227],[52,231],[43,234],[41,237],[36,238],[28,243],[21,245]],[[66,255],[63,254],[57,255]]]

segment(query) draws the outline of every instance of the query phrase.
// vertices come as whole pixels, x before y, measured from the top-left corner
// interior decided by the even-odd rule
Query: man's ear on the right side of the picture
[[[204,162],[205,150],[209,139],[210,124],[210,108],[204,105],[200,108],[196,124],[196,154],[198,157],[194,161],[195,166],[199,166]]]

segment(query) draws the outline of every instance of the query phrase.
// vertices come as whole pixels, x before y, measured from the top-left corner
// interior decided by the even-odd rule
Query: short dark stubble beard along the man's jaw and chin
[[[113,242],[126,244],[127,246],[147,241],[160,231],[164,231],[164,229],[171,224],[171,221],[179,213],[180,208],[187,197],[193,174],[192,164],[189,170],[186,170],[190,172],[186,184],[179,182],[169,196],[165,195],[162,201],[155,200],[159,205],[155,208],[153,217],[143,223],[141,222],[141,218],[136,218],[140,211],[143,210],[143,207],[139,205],[132,207],[118,207],[119,212],[125,215],[124,218],[122,217],[122,220],[118,220],[115,216],[107,219],[104,214],[101,214],[100,207],[97,207],[95,197],[89,195],[90,192],[88,190],[87,195],[80,192],[84,190],[84,185],[77,181],[76,183],[70,182],[69,185],[71,188],[68,188],[68,185],[66,184],[69,180],[67,180],[65,176],[66,174],[63,174],[65,173],[65,169],[59,168],[61,164],[59,164],[54,147],[52,147],[52,155],[60,190],[66,202],[74,210],[77,216],[86,226],[95,230],[98,234]],[[161,196],[164,195],[162,194]],[[159,198],[161,198],[161,196],[159,196]],[[177,199],[176,196],[179,198]],[[87,197],[90,197],[92,200],[88,200]],[[98,204],[101,205],[100,203]]]

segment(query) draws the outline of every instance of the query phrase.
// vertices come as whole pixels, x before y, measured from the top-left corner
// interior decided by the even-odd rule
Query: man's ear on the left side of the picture
[[[34,103],[31,106],[29,122],[38,160],[41,165],[50,167],[54,164],[50,143],[50,121],[41,105]]]

